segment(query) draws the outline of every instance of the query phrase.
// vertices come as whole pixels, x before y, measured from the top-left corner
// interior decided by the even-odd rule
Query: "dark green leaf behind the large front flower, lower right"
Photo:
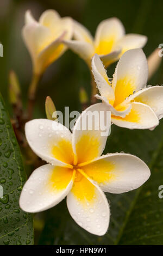
[[[138,190],[123,194],[106,193],[111,209],[108,233],[98,237],[80,228],[70,217],[64,200],[46,211],[47,220],[40,244],[162,244],[163,199],[158,198],[158,187],[163,185],[162,128],[162,121],[154,131],[112,127],[105,153],[124,151],[137,155],[149,165],[152,175]]]

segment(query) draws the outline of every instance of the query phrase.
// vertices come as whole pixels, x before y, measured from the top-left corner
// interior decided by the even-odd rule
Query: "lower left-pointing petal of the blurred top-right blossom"
[[[90,60],[94,53],[93,46],[84,41],[78,40],[63,40],[64,44],[68,46],[74,53],[79,54],[79,56],[84,60]]]

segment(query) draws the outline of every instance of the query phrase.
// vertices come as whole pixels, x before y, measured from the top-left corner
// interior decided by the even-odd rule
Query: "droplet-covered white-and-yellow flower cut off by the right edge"
[[[111,111],[111,121],[129,129],[153,129],[163,114],[163,87],[147,87],[148,65],[141,49],[129,50],[120,58],[110,82],[98,55],[92,72],[101,99]]]

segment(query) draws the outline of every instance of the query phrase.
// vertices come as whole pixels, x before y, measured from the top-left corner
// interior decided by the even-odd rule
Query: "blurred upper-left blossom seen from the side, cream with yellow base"
[[[26,11],[22,35],[32,57],[35,74],[40,75],[66,51],[67,47],[61,41],[70,40],[72,34],[73,21],[70,17],[61,18],[57,11],[46,10],[37,22],[30,11]]]

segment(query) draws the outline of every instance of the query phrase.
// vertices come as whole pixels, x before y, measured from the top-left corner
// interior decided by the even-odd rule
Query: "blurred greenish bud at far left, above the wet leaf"
[[[17,104],[20,101],[20,84],[18,78],[13,70],[9,74],[9,99],[12,104]]]

